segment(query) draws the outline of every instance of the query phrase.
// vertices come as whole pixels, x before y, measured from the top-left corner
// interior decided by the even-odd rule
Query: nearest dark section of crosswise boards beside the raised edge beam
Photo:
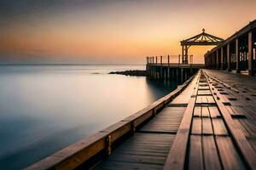
[[[135,133],[96,169],[162,169],[174,137],[168,133]]]

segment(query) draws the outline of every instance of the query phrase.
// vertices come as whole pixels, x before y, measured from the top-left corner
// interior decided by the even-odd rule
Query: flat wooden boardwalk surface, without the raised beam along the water
[[[96,169],[256,168],[256,81],[244,78],[241,95],[239,76],[201,71]]]

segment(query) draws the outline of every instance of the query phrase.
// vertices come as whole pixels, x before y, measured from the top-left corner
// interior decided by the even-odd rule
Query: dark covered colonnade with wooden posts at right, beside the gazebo
[[[221,42],[205,54],[210,69],[242,72],[253,75],[256,69],[256,20]]]

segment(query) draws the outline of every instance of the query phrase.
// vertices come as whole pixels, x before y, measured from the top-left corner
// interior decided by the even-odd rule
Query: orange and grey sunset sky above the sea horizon
[[[144,63],[201,33],[227,38],[255,0],[0,0],[0,63]],[[192,47],[200,62],[207,49]]]

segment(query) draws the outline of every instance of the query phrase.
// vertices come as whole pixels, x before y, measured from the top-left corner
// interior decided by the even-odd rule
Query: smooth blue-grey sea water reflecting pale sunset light
[[[144,66],[0,66],[0,167],[26,167],[177,86],[107,74],[128,69]]]

